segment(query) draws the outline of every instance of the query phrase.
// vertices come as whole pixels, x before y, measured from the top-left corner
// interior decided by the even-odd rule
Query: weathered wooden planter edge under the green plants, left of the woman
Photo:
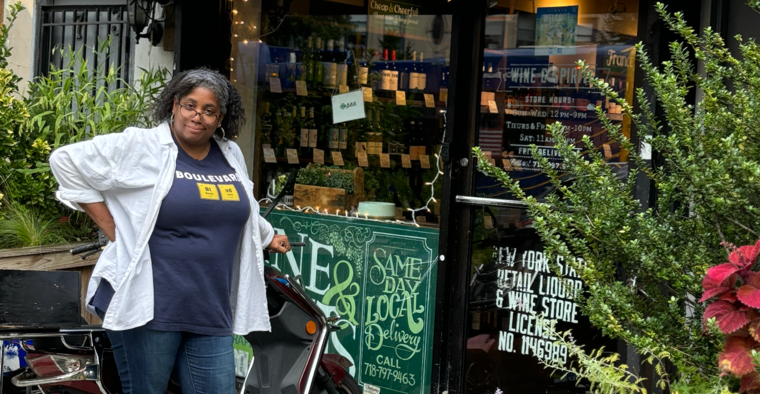
[[[81,256],[71,256],[68,252],[72,247],[85,243],[86,242],[75,242],[72,244],[0,250],[0,269],[78,271],[80,275],[80,314],[85,320],[87,320],[87,323],[100,324],[100,319],[87,312],[84,307],[84,299],[87,296],[87,283],[90,282],[93,266],[97,262],[98,257],[100,257],[100,254],[95,254],[82,260]]]

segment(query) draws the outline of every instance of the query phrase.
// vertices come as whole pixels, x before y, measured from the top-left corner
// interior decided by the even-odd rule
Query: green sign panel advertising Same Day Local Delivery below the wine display
[[[269,265],[301,275],[325,314],[340,316],[328,352],[353,362],[361,385],[429,392],[438,230],[287,211],[268,221],[306,242]]]

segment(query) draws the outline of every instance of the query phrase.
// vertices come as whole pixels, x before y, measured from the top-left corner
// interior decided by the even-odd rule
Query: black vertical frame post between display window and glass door
[[[473,191],[475,143],[480,114],[483,72],[483,36],[488,2],[451,0],[446,14],[453,15],[451,29],[451,81],[439,238],[438,286],[432,359],[434,394],[461,392],[467,321],[467,278],[470,255],[470,208],[455,203],[457,195]]]

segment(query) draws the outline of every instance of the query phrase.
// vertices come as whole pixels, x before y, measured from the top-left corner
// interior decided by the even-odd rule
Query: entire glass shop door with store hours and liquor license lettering
[[[474,140],[491,162],[519,179],[539,199],[553,193],[530,145],[562,168],[546,125],[565,126],[575,143],[589,136],[621,176],[627,155],[613,143],[594,108],[630,135],[630,119],[584,79],[583,60],[617,92],[632,101],[638,2],[619,0],[500,0],[492,2],[483,36],[480,114]],[[578,149],[581,149],[578,144]],[[572,175],[565,172],[572,182]],[[473,193],[457,197],[470,210],[470,254],[465,355],[462,381],[467,393],[584,393],[578,377],[553,373],[540,362],[568,364],[568,349],[536,323],[537,315],[572,329],[587,349],[616,341],[600,335],[581,314],[573,295],[583,284],[562,260],[549,262],[525,206],[496,179],[477,173]],[[561,276],[549,269],[557,263]]]

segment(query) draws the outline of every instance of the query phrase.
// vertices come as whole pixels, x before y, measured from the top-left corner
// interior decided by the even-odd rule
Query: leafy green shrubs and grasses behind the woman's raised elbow
[[[19,78],[5,68],[11,55],[6,37],[24,7],[17,2],[10,10],[10,23],[0,28],[0,191],[12,203],[0,207],[0,214],[18,204],[47,219],[61,218],[71,211],[55,200],[57,183],[47,163],[51,150],[129,126],[151,127],[151,106],[170,75],[165,68],[142,70],[135,84],[126,84],[118,69],[106,62],[106,40],[92,49],[97,58],[105,59],[93,70],[87,68],[81,49],[59,49],[68,59],[65,66],[53,65],[48,75],[30,82],[21,99],[14,99]],[[86,216],[74,217],[78,219],[50,229],[62,231],[69,241],[90,238],[93,223]]]

